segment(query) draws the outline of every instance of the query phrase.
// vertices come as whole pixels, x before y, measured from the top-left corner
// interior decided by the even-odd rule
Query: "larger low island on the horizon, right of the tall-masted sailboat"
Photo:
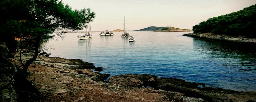
[[[136,30],[136,31],[155,31],[155,32],[191,32],[192,30],[188,29],[179,29],[174,27],[155,27],[151,26],[148,28]]]

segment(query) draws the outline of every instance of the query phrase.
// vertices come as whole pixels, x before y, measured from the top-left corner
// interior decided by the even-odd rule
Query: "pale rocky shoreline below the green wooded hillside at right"
[[[229,35],[213,34],[213,33],[189,33],[189,34],[184,34],[183,36],[256,44],[256,38],[251,38],[248,36],[229,36]]]

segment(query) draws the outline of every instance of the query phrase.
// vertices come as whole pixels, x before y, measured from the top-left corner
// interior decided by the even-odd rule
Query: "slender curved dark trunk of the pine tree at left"
[[[39,48],[39,39],[36,39],[35,40],[35,43],[34,43],[34,56],[32,58],[30,58],[24,65],[23,65],[23,74],[26,75],[27,74],[27,70],[28,70],[28,66],[33,62],[35,61],[35,59],[37,59],[37,56],[38,56],[38,48]]]

